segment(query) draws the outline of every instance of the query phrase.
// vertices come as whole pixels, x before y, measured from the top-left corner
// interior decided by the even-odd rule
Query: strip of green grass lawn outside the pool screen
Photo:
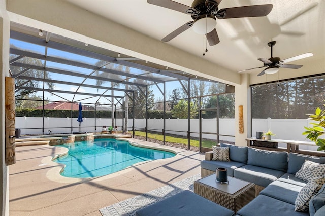
[[[137,135],[137,136],[146,136],[146,132],[135,131],[135,135]],[[148,133],[148,138],[157,139],[157,140],[160,140],[160,141],[164,140],[164,136],[161,135],[161,134]],[[173,136],[167,136],[166,135],[165,140],[167,142],[183,143],[183,144],[187,145],[187,139],[185,139],[185,138],[178,138],[178,137],[173,137]],[[215,145],[215,144],[216,144],[216,141],[202,140],[202,147],[212,148],[211,146]],[[190,140],[190,145],[199,147],[199,140],[191,139]]]

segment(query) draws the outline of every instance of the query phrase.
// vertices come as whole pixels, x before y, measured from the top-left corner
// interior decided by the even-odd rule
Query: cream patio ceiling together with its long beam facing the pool
[[[177,2],[190,6],[192,0]],[[192,77],[198,75],[232,85],[241,82],[238,71],[263,66],[257,59],[271,57],[270,47],[267,45],[270,41],[276,41],[273,57],[286,59],[307,52],[314,55],[290,62],[304,65],[302,68],[281,68],[280,73],[276,75],[257,77],[263,68],[249,70],[245,73],[252,75],[250,84],[325,72],[325,1],[219,2],[219,9],[261,4],[272,4],[273,9],[265,17],[217,19],[216,29],[220,43],[212,47],[207,45],[208,52],[205,56],[203,35],[195,33],[192,29],[184,31],[169,42],[161,42],[166,35],[192,19],[190,15],[149,4],[146,0],[62,0],[56,3],[50,0],[32,0],[28,4],[23,0],[8,0],[7,10],[12,12],[11,28],[19,32],[45,29],[58,36],[64,35],[62,41],[60,37],[55,39],[60,43],[83,47],[112,57],[116,57],[119,52],[122,57],[136,57],[138,60],[130,61],[142,65],[146,65],[145,59],[148,59],[149,66],[153,68],[163,69],[168,66],[176,73],[186,71],[192,74]],[[28,19],[24,20],[17,15],[26,16]],[[90,20],[95,16],[102,19]],[[34,20],[43,23],[34,23]],[[79,28],[73,26],[73,23]],[[34,28],[24,29],[20,24]],[[68,31],[58,30],[56,26]],[[72,37],[70,32],[73,31],[77,35]],[[70,35],[74,40],[69,40]],[[52,37],[51,40],[53,39]],[[81,43],[76,44],[76,40]],[[92,46],[85,47],[85,41],[97,47],[106,47],[107,51],[92,49]],[[147,46],[143,46],[146,41]]]

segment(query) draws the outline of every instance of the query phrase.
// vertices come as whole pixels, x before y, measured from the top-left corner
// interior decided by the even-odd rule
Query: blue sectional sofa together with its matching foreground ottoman
[[[201,177],[215,174],[218,167],[228,170],[228,175],[255,184],[256,198],[237,212],[238,216],[254,215],[325,215],[325,184],[309,201],[309,210],[295,211],[299,192],[309,189],[309,182],[296,177],[305,160],[325,164],[325,157],[312,157],[296,153],[257,150],[221,143],[229,147],[230,161],[212,160],[213,153],[207,152],[201,161]],[[325,166],[325,165],[324,165]],[[323,175],[323,171],[321,171]],[[323,179],[320,177],[319,179]],[[322,182],[320,182],[322,183]],[[318,188],[319,189],[319,188]],[[198,209],[201,209],[198,213]],[[235,215],[190,191],[184,191],[136,212],[137,216],[148,215]]]

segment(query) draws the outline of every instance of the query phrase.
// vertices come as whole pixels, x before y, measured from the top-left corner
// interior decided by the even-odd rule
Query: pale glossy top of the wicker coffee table
[[[216,188],[220,191],[229,193],[229,194],[235,194],[237,191],[241,190],[242,188],[249,185],[249,182],[230,177],[228,176],[228,183],[221,184],[220,182],[216,181],[216,174],[209,175],[205,178],[201,178],[200,180],[197,180],[197,182],[200,182],[202,184],[208,185],[210,187]]]

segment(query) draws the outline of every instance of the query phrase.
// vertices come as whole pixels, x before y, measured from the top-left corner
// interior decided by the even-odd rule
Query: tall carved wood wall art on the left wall
[[[6,143],[6,165],[16,163],[16,150],[15,150],[15,79],[11,77],[5,78],[5,143]]]

